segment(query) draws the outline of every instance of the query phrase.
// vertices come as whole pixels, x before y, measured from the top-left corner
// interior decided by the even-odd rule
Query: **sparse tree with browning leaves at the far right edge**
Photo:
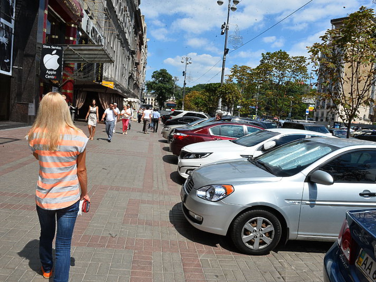
[[[373,9],[362,6],[343,24],[328,29],[321,42],[308,47],[321,86],[320,96],[332,101],[331,108],[347,126],[359,117],[359,107],[374,103],[376,24]]]

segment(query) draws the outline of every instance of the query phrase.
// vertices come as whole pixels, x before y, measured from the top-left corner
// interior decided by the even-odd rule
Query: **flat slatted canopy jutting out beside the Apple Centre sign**
[[[61,45],[64,50],[64,63],[113,63],[114,59],[103,45]]]

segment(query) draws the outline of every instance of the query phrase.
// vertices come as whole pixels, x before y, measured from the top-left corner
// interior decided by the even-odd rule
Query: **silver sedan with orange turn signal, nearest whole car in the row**
[[[186,219],[243,253],[279,241],[337,238],[348,209],[376,207],[376,145],[301,139],[259,157],[197,168],[181,190]]]

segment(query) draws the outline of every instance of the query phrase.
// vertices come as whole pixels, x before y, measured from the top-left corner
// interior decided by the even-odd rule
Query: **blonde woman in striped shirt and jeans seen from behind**
[[[52,277],[52,241],[56,227],[54,281],[67,282],[79,202],[90,201],[85,165],[85,147],[89,139],[74,126],[67,104],[57,92],[49,92],[43,97],[26,138],[39,161],[35,202],[41,226],[42,275]]]

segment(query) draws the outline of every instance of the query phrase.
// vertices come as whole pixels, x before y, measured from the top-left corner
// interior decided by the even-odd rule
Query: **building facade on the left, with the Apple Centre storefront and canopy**
[[[0,41],[0,56],[3,61],[9,57],[0,64],[0,121],[31,124],[40,99],[49,91],[65,94],[77,108],[77,119],[85,118],[93,99],[100,113],[110,102],[120,107],[128,100],[138,103],[147,64],[140,0],[0,3],[0,17],[8,20],[1,20],[0,38],[8,39],[6,44]],[[48,48],[63,50],[61,78],[42,73],[46,48],[49,57],[55,53]]]

